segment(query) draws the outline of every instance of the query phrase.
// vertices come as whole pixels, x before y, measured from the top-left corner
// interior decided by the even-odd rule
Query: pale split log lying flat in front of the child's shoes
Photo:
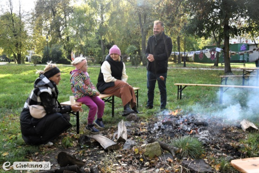
[[[105,150],[117,150],[119,145],[102,135],[90,135],[89,138],[96,140]]]

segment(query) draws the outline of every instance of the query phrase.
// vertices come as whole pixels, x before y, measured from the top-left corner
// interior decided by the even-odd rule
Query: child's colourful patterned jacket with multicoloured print
[[[70,71],[70,74],[71,91],[76,100],[84,96],[96,95],[96,92],[98,91],[90,80],[90,76],[87,72],[83,72],[82,70],[72,70]]]

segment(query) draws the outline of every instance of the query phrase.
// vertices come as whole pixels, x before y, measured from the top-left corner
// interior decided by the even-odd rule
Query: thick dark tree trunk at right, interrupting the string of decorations
[[[228,26],[228,20],[225,20],[224,28],[224,63],[225,63],[225,74],[232,74],[231,67],[230,67],[230,59],[229,59],[229,26]]]

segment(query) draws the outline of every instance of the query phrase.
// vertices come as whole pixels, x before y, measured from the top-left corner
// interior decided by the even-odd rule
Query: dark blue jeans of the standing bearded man
[[[159,76],[164,77],[164,81],[162,81]],[[153,102],[154,102],[154,90],[156,86],[156,81],[158,84],[158,88],[160,91],[160,108],[165,109],[166,108],[166,101],[167,101],[167,93],[166,93],[166,77],[167,73],[153,73],[151,71],[147,71],[147,106],[148,107],[153,107]],[[157,79],[157,80],[156,80]]]

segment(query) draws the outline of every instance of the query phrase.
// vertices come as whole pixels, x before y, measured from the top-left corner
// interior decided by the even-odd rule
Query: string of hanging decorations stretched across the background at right
[[[221,48],[211,48],[211,49],[205,49],[205,50],[200,50],[200,51],[191,51],[191,52],[185,52],[185,55],[186,56],[193,56],[194,54],[216,54],[216,52],[221,52],[223,49]],[[248,51],[242,51],[242,52],[234,52],[234,51],[229,51],[229,55],[236,55],[236,54],[239,54],[239,55],[244,55],[245,53],[248,53],[248,54],[251,54],[253,53],[253,51],[259,51],[259,48],[254,48],[253,50],[248,50]],[[171,55],[179,55],[182,54],[184,55],[184,52],[172,52]],[[207,56],[207,55],[206,55]],[[207,56],[208,57],[208,56]]]

